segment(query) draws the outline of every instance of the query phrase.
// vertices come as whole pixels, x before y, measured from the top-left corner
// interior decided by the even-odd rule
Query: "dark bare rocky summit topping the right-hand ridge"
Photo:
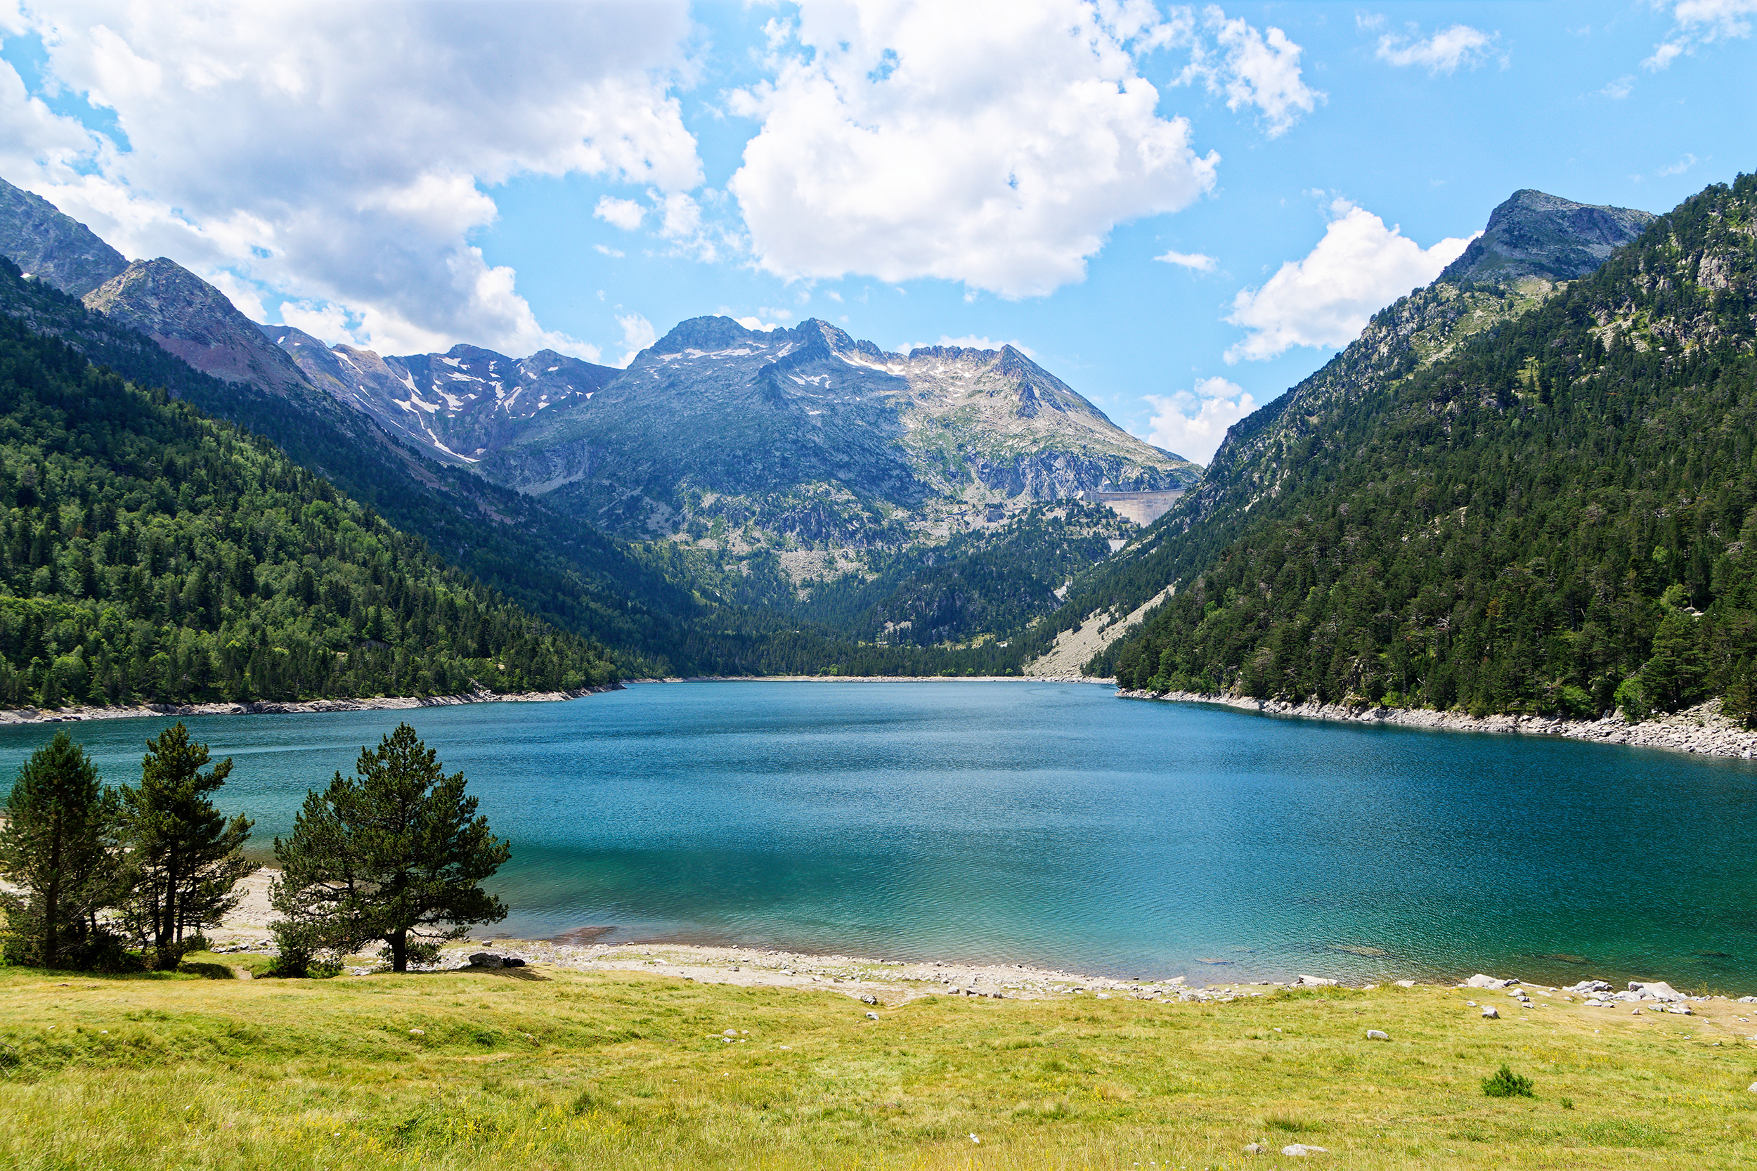
[[[1653,223],[1634,207],[1576,204],[1573,199],[1513,192],[1488,216],[1488,227],[1453,260],[1442,281],[1509,283],[1525,276],[1571,281],[1592,273],[1604,258]]]

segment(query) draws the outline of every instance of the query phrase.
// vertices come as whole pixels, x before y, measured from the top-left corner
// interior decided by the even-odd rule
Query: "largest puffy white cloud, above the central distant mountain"
[[[805,0],[771,28],[761,120],[729,183],[757,267],[789,280],[961,281],[1003,297],[1079,281],[1112,227],[1214,186],[1133,51],[1151,5]],[[1107,23],[1112,21],[1112,23]]]

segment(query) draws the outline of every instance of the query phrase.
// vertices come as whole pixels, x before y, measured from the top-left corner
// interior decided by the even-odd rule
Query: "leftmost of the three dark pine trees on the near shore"
[[[77,964],[116,897],[116,791],[65,731],[18,770],[0,830],[0,876],[23,888],[4,913],[26,964]],[[9,948],[12,951],[12,948]]]

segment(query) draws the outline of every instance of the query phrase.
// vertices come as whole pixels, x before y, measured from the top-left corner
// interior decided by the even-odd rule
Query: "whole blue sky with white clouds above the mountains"
[[[0,176],[258,320],[1014,341],[1195,459],[1511,192],[1757,160],[1757,0],[0,7]]]

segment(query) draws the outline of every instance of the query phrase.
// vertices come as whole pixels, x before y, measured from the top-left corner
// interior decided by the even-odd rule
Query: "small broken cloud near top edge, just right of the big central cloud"
[[[1189,9],[1174,9],[1172,26],[1179,30],[1175,40],[1191,49],[1191,62],[1174,84],[1200,79],[1209,93],[1226,95],[1226,109],[1254,105],[1269,120],[1272,139],[1325,98],[1300,77],[1302,49],[1279,28],[1270,26],[1265,37],[1244,18],[1228,19],[1214,5],[1202,11],[1200,25]],[[1212,46],[1198,28],[1212,35]]]

